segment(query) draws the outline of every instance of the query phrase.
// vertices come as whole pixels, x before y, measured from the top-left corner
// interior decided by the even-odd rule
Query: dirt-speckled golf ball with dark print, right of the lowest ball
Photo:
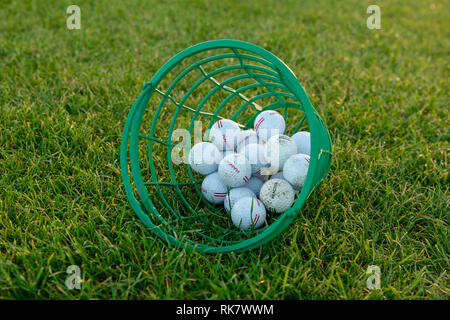
[[[294,203],[294,189],[286,180],[270,179],[263,184],[259,198],[267,210],[282,213]]]

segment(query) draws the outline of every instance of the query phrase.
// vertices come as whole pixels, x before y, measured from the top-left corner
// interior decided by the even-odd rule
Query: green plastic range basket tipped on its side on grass
[[[174,159],[186,155],[218,119],[253,128],[255,117],[268,109],[284,115],[286,134],[310,131],[311,161],[292,208],[281,215],[268,213],[266,226],[243,232],[222,205],[203,199],[204,177]],[[184,141],[183,132],[190,134]],[[158,237],[199,252],[243,251],[269,242],[293,221],[328,173],[331,139],[294,73],[279,58],[248,42],[213,40],[178,53],[144,84],[125,123],[120,162],[133,210]]]

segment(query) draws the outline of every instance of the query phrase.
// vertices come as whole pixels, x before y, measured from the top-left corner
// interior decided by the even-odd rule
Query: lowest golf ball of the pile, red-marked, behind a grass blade
[[[266,209],[254,197],[242,198],[231,209],[231,220],[241,230],[258,229],[266,220]]]

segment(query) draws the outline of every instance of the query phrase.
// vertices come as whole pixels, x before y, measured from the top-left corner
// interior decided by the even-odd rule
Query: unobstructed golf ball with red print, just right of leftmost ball
[[[252,166],[245,156],[234,153],[226,156],[219,163],[220,179],[229,187],[241,187],[250,180]]]

